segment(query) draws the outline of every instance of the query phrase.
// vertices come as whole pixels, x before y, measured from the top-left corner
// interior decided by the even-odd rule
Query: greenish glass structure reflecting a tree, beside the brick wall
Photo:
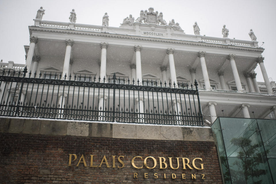
[[[276,120],[220,117],[211,128],[226,184],[276,181]]]

